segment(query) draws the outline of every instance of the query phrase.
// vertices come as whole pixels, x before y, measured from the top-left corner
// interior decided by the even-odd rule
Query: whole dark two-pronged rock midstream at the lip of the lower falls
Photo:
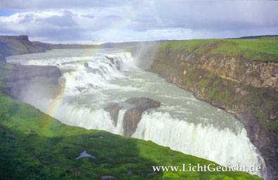
[[[104,110],[110,113],[110,117],[117,125],[119,111],[122,108],[127,109],[124,116],[123,128],[124,136],[132,136],[137,129],[137,125],[141,120],[141,115],[145,110],[149,108],[158,108],[160,107],[159,101],[154,101],[151,98],[129,98],[125,102],[122,102],[121,105],[114,103],[108,105]]]

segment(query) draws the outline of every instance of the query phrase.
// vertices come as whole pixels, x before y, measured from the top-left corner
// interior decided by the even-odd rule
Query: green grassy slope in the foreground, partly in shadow
[[[1,63],[1,77],[9,68]],[[103,138],[90,139],[99,136]],[[211,162],[151,141],[66,126],[1,92],[0,137],[0,179],[80,180],[105,175],[117,179],[259,179],[243,172],[165,172],[147,176],[153,165]],[[84,150],[96,159],[75,160]],[[127,175],[128,169],[132,169],[132,175]]]

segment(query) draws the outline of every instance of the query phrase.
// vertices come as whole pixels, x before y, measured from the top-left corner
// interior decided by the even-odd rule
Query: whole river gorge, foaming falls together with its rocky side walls
[[[159,46],[154,55],[144,55],[154,58],[150,71],[182,89],[193,91],[197,98],[235,114],[241,122],[219,108],[198,101],[189,91],[141,70],[134,53],[120,49],[63,49],[8,57],[9,63],[23,66],[13,65],[15,71],[4,79],[8,89],[1,91],[34,105],[64,124],[151,140],[220,165],[260,165],[263,173],[258,175],[264,178],[267,178],[267,169],[274,174],[277,112],[271,101],[277,93],[277,63],[247,61],[242,65],[247,70],[241,70],[241,58],[210,56],[207,52],[187,53],[182,46],[171,49],[168,41]],[[38,68],[32,76],[18,72],[17,66],[26,68],[25,72],[28,67]],[[49,70],[42,73],[41,79],[36,77],[43,72],[39,67]],[[13,78],[15,72],[25,82]],[[47,76],[50,80],[43,78]],[[247,85],[236,85],[239,82]],[[250,104],[228,100],[234,96],[253,96],[257,89],[252,86],[263,91],[261,96],[265,101],[260,105],[270,104],[269,109],[264,110],[267,118],[272,117],[270,120],[261,117],[258,123],[255,116],[258,113],[250,110],[246,114],[244,105]],[[226,94],[217,97],[221,91]],[[236,106],[239,103],[241,106]]]

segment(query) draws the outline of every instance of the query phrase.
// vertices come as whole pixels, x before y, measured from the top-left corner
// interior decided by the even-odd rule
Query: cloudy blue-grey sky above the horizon
[[[100,44],[278,34],[278,1],[1,0],[0,34]]]

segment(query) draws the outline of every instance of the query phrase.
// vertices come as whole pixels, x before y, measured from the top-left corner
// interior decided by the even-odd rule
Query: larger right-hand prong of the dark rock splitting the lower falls
[[[137,124],[141,120],[142,113],[149,108],[160,107],[160,102],[154,101],[151,98],[129,98],[126,102],[135,105],[134,108],[130,108],[125,112],[123,124],[125,129],[124,135],[132,136],[137,129]]]

